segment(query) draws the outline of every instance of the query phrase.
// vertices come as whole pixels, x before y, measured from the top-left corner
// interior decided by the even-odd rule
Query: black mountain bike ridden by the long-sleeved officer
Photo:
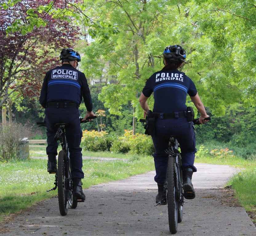
[[[96,116],[90,116],[86,120],[82,121],[83,117],[80,117],[80,123],[86,123],[88,120],[95,119]],[[45,122],[37,122],[39,126],[45,126]],[[77,199],[73,195],[73,181],[71,179],[72,166],[70,165],[70,153],[66,140],[65,128],[69,124],[58,123],[55,124],[56,128],[59,128],[54,136],[54,140],[60,141],[62,150],[58,154],[58,166],[55,174],[54,187],[47,192],[56,190],[58,187],[58,203],[59,211],[61,215],[66,215],[68,212],[68,205],[70,208],[75,209],[78,202],[84,202],[82,199]]]

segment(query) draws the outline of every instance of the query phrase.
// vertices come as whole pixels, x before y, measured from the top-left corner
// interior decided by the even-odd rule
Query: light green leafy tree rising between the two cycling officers
[[[109,18],[112,23],[118,22],[122,29],[107,44],[95,41],[85,48],[85,70],[99,81],[104,79],[107,84],[99,98],[111,114],[120,115],[122,105],[132,104],[135,133],[139,92],[150,74],[162,66],[160,51],[171,43],[166,36],[178,8],[176,2],[163,0],[94,3],[97,3],[99,19]],[[166,7],[170,5],[174,8],[172,11]],[[170,24],[168,28],[164,27],[166,23]],[[141,112],[141,108],[138,111]]]

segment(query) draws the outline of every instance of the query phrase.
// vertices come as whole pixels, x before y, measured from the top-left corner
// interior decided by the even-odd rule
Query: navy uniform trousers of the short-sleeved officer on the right
[[[181,168],[191,168],[193,172],[197,171],[196,167],[194,167],[196,148],[192,125],[193,123],[188,122],[186,117],[156,120],[155,135],[152,137],[155,147],[155,182],[164,183],[166,179],[168,154],[166,154],[165,150],[168,148],[169,140],[165,136],[176,136],[181,149]]]

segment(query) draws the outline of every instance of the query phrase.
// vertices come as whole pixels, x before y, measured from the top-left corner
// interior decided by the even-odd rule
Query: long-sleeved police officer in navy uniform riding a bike
[[[61,66],[49,70],[44,78],[39,98],[40,104],[45,108],[45,122],[47,128],[48,155],[47,171],[56,173],[58,143],[54,140],[57,129],[56,123],[67,123],[66,138],[70,151],[71,178],[73,179],[74,195],[85,200],[82,191],[82,148],[80,148],[82,130],[78,107],[84,100],[87,112],[83,120],[95,116],[92,112],[92,99],[85,74],[76,68],[81,61],[80,54],[73,49],[62,49],[60,53]]]

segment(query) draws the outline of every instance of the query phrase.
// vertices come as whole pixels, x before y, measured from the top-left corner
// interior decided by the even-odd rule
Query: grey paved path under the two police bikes
[[[197,163],[193,175],[196,198],[187,200],[177,236],[255,236],[256,229],[244,208],[223,189],[236,170]],[[58,210],[51,198],[0,224],[2,236],[16,235],[170,235],[167,206],[154,207],[157,186],[154,171],[85,189],[86,201]]]

